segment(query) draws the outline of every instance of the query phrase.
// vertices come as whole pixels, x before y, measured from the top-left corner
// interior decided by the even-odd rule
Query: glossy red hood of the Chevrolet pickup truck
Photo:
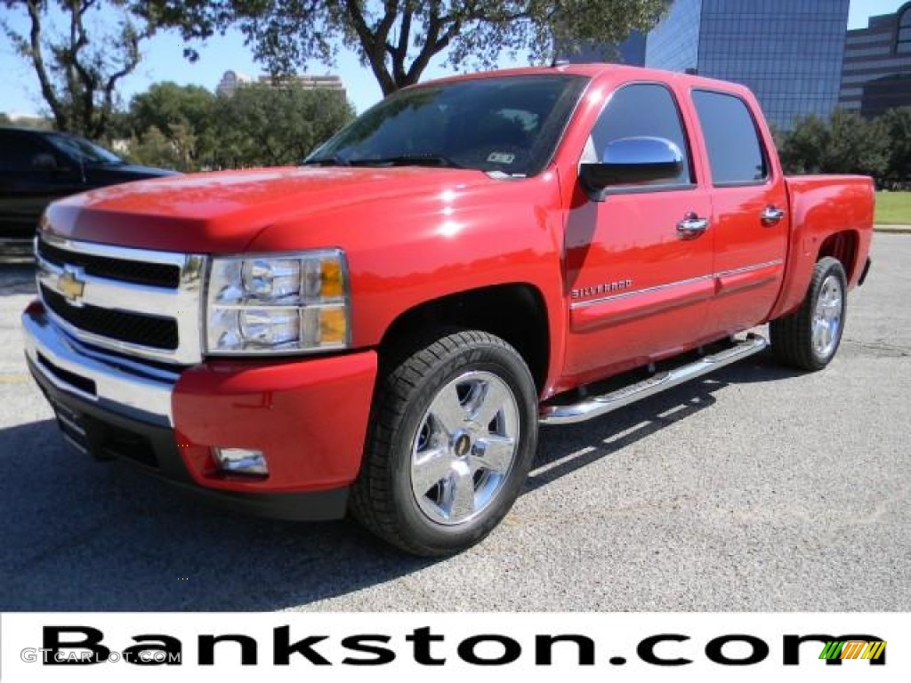
[[[140,167],[141,168],[141,167]],[[453,168],[257,168],[169,176],[94,189],[47,209],[60,237],[139,249],[241,252],[276,223],[333,209],[495,182]]]

